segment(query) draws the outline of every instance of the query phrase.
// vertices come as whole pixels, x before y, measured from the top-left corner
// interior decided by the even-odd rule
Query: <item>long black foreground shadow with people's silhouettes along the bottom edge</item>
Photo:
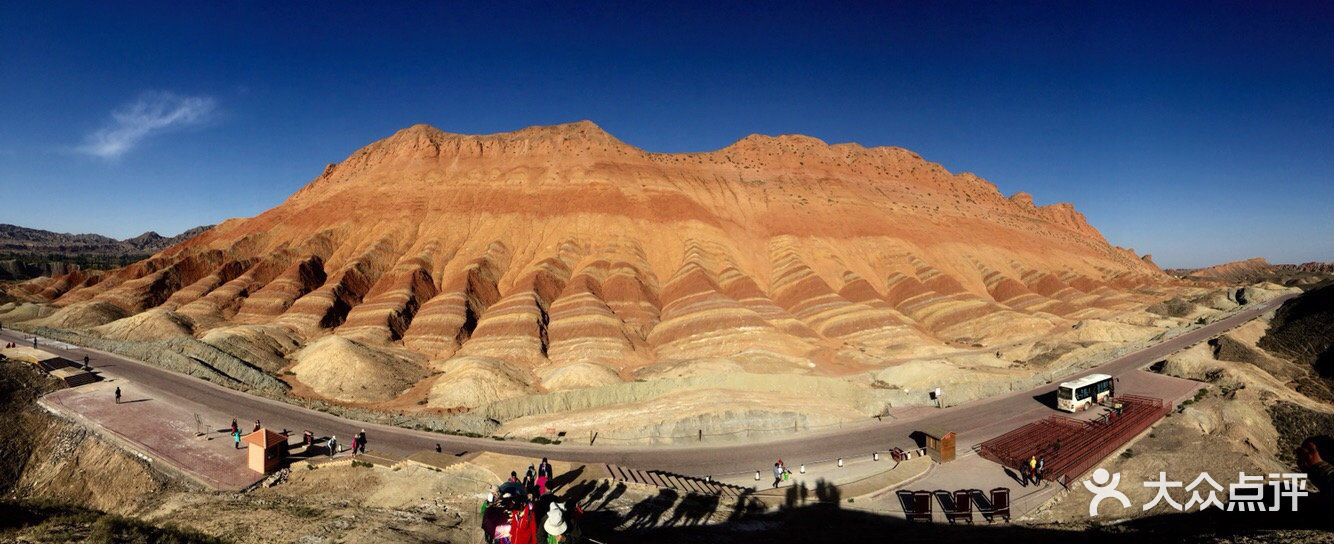
[[[1331,541],[1329,529],[1334,528],[1334,516],[1329,516],[1334,512],[1334,493],[1319,492],[1303,500],[1301,512],[1210,509],[1111,524],[1045,525],[1011,524],[986,516],[991,504],[982,491],[970,495],[976,508],[970,515],[971,523],[960,519],[958,524],[908,523],[852,509],[854,500],[842,497],[838,487],[823,480],[810,488],[788,488],[776,508],[768,508],[752,493],[747,489],[739,496],[718,496],[638,487],[631,492],[623,483],[583,480],[559,496],[584,511],[580,528],[602,543],[1326,543]],[[627,496],[642,499],[627,508]],[[942,511],[954,508],[955,497],[950,493],[938,491],[932,496]],[[904,500],[903,493],[898,500]]]

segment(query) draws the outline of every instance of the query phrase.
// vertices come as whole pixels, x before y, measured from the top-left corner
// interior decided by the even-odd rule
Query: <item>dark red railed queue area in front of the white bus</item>
[[[983,457],[1022,469],[1030,457],[1045,460],[1045,477],[1070,481],[1082,476],[1130,439],[1171,411],[1162,399],[1125,395],[1122,405],[1093,421],[1051,416],[982,443]]]

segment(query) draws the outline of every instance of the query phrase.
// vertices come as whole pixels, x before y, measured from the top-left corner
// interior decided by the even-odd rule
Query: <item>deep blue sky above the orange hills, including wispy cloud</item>
[[[1331,3],[215,4],[0,5],[0,223],[173,235],[414,123],[588,119],[904,147],[1165,267],[1334,260]]]

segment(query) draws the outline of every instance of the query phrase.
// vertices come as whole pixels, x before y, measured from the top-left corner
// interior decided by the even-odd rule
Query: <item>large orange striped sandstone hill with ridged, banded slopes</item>
[[[299,395],[412,409],[870,372],[1069,332],[1170,281],[1070,204],[904,149],[748,136],[651,153],[583,121],[406,128],[256,217],[21,288],[60,307],[32,324],[188,335]]]

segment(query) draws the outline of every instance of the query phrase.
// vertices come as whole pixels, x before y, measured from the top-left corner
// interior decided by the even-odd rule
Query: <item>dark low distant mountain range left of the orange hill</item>
[[[167,237],[156,232],[116,240],[0,224],[0,280],[57,276],[76,269],[123,267],[189,240],[212,225]]]

